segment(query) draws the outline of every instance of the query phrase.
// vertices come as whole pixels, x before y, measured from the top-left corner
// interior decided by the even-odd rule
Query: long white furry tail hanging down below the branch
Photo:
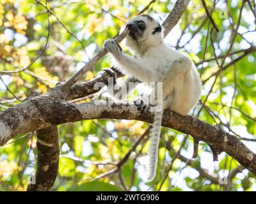
[[[163,110],[154,113],[154,123],[149,133],[150,145],[148,147],[148,163],[145,166],[147,171],[147,182],[150,182],[156,177],[157,159],[158,159],[158,146],[161,131]]]

